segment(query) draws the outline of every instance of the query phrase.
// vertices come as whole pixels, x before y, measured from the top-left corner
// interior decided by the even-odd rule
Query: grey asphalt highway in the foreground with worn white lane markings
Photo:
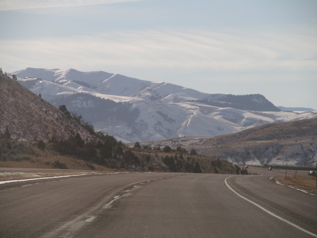
[[[317,234],[317,196],[268,177],[127,173],[0,184],[0,237],[314,237],[301,229]]]

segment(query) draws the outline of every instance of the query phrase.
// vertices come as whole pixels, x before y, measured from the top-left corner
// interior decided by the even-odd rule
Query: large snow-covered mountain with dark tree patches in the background
[[[122,142],[218,136],[317,117],[317,112],[283,112],[259,94],[207,94],[103,71],[26,68],[14,74],[56,107],[66,105]]]

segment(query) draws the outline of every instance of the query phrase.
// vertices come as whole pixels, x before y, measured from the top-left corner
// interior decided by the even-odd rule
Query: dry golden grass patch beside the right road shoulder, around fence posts
[[[310,190],[313,191],[315,193],[317,193],[317,189],[316,189],[316,177],[300,177],[297,176],[296,178],[294,176],[287,176],[287,178],[285,178],[285,176],[276,176],[275,177],[276,180],[288,184],[288,185],[293,185],[296,186],[298,188],[302,188],[302,189],[306,189],[306,190]]]

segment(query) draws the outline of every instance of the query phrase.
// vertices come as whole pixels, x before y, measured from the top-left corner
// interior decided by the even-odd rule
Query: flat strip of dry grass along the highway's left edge
[[[0,172],[0,181],[7,180],[21,180],[21,179],[31,179],[31,178],[44,178],[44,177],[55,177],[55,176],[65,176],[65,175],[81,175],[81,174],[97,174],[97,173],[107,173],[112,171],[76,171],[76,170],[45,170],[45,171],[2,171]]]

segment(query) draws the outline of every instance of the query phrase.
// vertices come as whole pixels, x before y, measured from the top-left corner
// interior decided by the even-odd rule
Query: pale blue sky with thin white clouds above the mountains
[[[0,0],[0,67],[106,71],[317,110],[315,0]]]

